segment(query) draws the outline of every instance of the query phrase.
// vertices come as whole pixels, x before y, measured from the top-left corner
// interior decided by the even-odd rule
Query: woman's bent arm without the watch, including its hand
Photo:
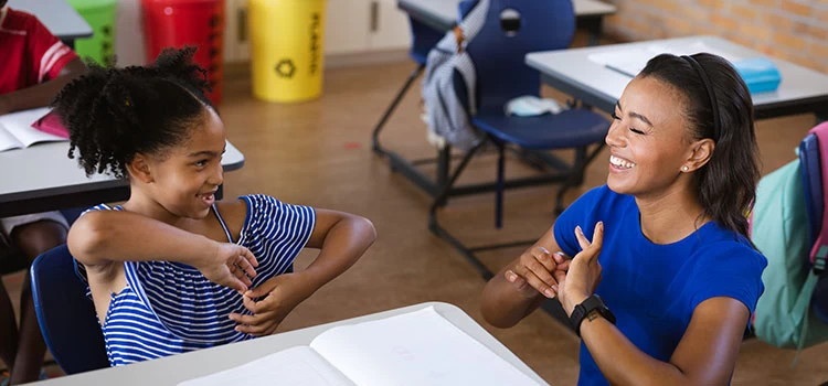
[[[565,270],[552,226],[532,247],[507,265],[486,285],[480,310],[489,324],[507,329],[537,310],[558,291],[553,276]]]

